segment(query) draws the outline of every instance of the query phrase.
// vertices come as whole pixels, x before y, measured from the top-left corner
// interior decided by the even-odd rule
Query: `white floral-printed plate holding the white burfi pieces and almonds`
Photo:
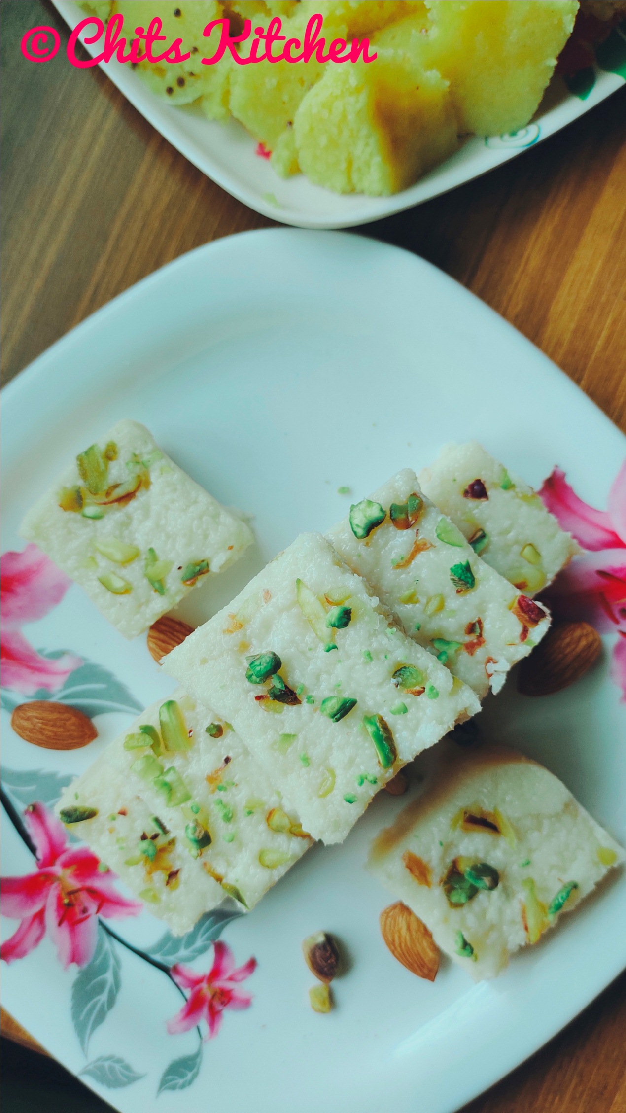
[[[558,462],[598,506],[625,451],[622,434],[560,371],[439,270],[376,242],[294,229],[247,233],[183,256],[8,386],[4,550],[23,548],[19,520],[68,456],[124,416],[145,422],[195,479],[254,515],[255,549],[186,600],[195,623],[299,532],[340,519],[351,500],[339,486],[360,498],[398,469],[427,464],[444,441],[478,437],[535,484]],[[174,687],[145,639],[124,641],[76,587],[25,632],[38,649],[70,649],[92,662],[85,698],[99,682],[104,713],[98,739],[65,754],[22,741],[6,716],[6,786],[18,809],[52,799],[59,778],[84,769],[128,725],[133,702],[144,707]],[[625,841],[625,715],[608,656],[554,697],[525,700],[512,688],[488,701],[485,731],[537,756]],[[456,1110],[626,964],[626,877],[496,981],[475,986],[444,961],[430,984],[385,949],[378,918],[390,898],[363,868],[373,835],[402,802],[381,794],[343,846],[311,850],[253,913],[225,926],[237,963],[258,959],[245,984],[254,1002],[225,1013],[202,1060],[195,1031],[166,1033],[180,1007],[172,982],[110,939],[80,974],[63,973],[45,939],[4,969],[6,1007],[124,1113],[183,1113],[200,1102],[255,1113]],[[6,817],[3,825],[3,873],[31,870]],[[196,933],[177,945],[163,942],[148,913],[109,925],[168,965],[184,947],[197,969],[208,968],[211,923],[204,943]],[[4,920],[4,937],[14,927]],[[301,940],[320,928],[336,933],[352,958],[329,1016],[309,1006],[301,955]],[[190,1090],[166,1087],[157,1100],[164,1074],[168,1086],[190,1082]]]

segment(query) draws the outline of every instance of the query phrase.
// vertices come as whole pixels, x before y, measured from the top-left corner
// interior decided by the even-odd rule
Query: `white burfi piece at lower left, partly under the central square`
[[[253,908],[311,846],[232,727],[182,690],[138,716],[107,758],[222,887],[221,899]]]

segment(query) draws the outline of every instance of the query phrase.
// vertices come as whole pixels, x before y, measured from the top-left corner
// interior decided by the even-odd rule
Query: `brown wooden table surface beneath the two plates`
[[[62,50],[27,62],[28,28],[51,23],[67,38],[51,4],[1,9],[6,383],[183,252],[273,221],[187,162],[99,69],[72,68]],[[624,430],[625,140],[622,89],[486,177],[362,229],[478,294]],[[626,1113],[625,991],[623,976],[466,1113]],[[28,1043],[6,1014],[2,1032]]]

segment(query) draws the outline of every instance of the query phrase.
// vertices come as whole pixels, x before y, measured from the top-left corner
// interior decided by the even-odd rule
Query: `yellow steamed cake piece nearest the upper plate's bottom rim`
[[[307,93],[294,130],[311,181],[342,194],[393,194],[457,149],[448,82],[419,60],[426,26],[426,17],[392,24],[372,39],[374,62],[334,66]]]

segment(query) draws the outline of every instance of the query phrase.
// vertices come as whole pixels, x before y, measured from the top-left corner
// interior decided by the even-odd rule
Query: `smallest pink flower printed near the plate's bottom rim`
[[[216,1036],[222,1024],[225,1008],[250,1008],[252,996],[241,993],[237,984],[256,969],[256,958],[235,969],[233,952],[227,944],[214,943],[214,961],[208,974],[196,974],[188,966],[179,963],[172,967],[172,977],[182,989],[190,989],[187,1001],[179,1013],[167,1025],[170,1035],[187,1032],[202,1021],[207,1025],[205,1040]]]

